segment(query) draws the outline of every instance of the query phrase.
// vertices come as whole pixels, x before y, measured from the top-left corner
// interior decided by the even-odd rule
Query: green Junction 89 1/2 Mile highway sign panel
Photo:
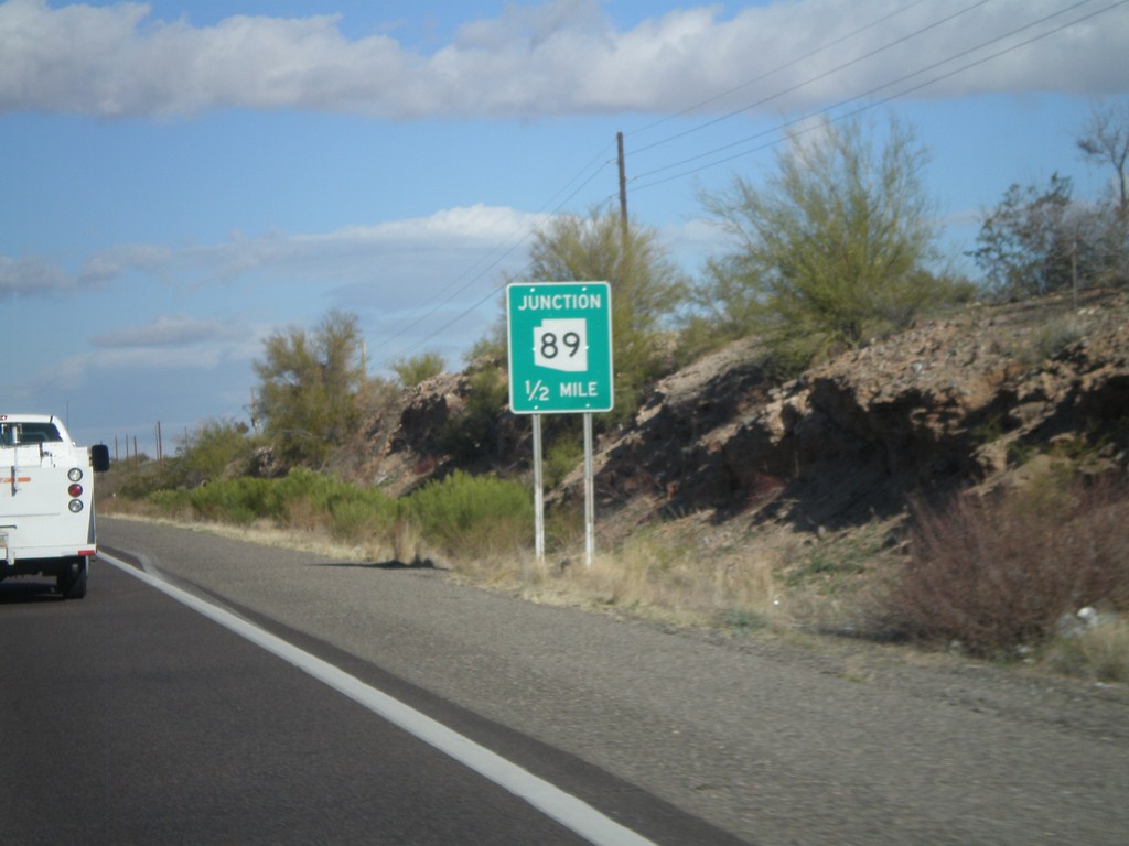
[[[606,282],[506,288],[515,414],[610,412],[612,289]]]

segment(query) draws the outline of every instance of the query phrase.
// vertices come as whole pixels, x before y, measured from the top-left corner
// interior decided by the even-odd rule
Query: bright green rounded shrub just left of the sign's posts
[[[533,501],[524,485],[456,472],[404,501],[428,543],[447,555],[470,557],[511,552],[533,530]]]

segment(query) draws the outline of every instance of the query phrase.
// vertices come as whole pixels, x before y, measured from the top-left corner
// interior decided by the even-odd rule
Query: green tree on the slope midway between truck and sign
[[[279,457],[321,465],[359,422],[361,337],[357,317],[331,311],[313,334],[290,327],[263,342],[257,412]]]

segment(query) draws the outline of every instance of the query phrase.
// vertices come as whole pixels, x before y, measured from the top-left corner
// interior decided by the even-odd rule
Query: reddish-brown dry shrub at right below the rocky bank
[[[1129,608],[1126,484],[1059,474],[918,509],[881,596],[889,632],[989,655],[1047,638],[1084,606]]]

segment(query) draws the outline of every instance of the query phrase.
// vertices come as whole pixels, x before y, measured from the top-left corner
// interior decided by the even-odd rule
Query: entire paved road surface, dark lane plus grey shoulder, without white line
[[[1123,688],[674,633],[431,570],[99,529],[108,553],[655,843],[1129,841]],[[26,584],[0,584],[3,843],[576,841],[105,563],[80,602]]]

